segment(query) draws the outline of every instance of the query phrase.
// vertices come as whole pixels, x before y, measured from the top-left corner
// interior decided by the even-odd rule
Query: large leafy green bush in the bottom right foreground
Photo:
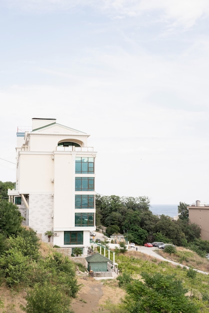
[[[174,275],[141,274],[144,282],[126,285],[124,309],[130,313],[197,313],[198,306],[185,296],[186,289]]]

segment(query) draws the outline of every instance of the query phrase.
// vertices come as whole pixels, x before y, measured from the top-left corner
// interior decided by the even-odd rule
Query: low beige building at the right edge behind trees
[[[196,200],[187,208],[189,221],[200,226],[201,239],[209,240],[209,204]]]

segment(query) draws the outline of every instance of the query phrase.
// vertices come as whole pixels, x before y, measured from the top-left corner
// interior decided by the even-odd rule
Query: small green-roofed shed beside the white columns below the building
[[[86,256],[85,259],[87,261],[87,268],[89,271],[107,271],[107,262],[110,261],[108,257],[105,257],[99,253]]]

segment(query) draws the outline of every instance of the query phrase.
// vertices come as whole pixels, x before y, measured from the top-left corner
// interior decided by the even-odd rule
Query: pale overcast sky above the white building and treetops
[[[209,202],[208,0],[1,0],[0,180],[17,126],[90,134],[96,192]]]

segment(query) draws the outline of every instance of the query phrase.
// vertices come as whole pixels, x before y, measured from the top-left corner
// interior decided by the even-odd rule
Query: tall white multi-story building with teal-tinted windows
[[[16,186],[8,190],[9,201],[42,241],[53,230],[53,244],[87,254],[95,230],[96,152],[87,146],[89,135],[54,118],[32,118],[32,128],[18,127],[16,135]]]

